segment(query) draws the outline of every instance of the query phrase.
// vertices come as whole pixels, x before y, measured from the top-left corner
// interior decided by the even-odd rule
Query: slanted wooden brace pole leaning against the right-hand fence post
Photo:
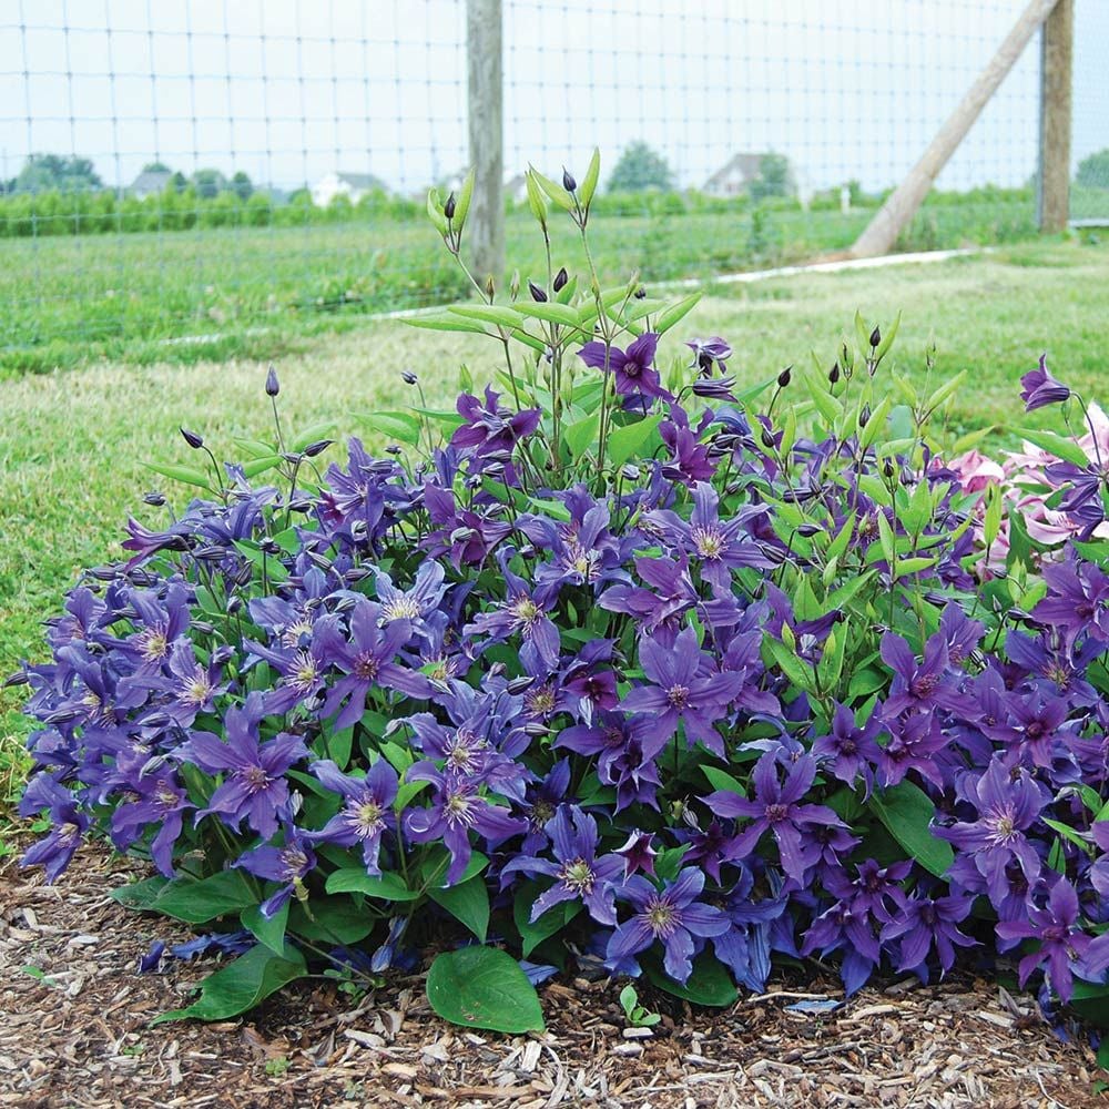
[[[1057,0],[1029,0],[1024,14],[998,47],[989,64],[978,74],[978,79],[967,91],[959,105],[936,132],[928,149],[913,166],[905,180],[891,193],[855,245],[847,252],[853,258],[869,258],[888,253],[897,236],[916,215],[917,208],[928,195],[939,171],[966,138],[989,98],[997,92],[1016,60],[1024,53],[1028,41],[1044,20],[1051,13]]]

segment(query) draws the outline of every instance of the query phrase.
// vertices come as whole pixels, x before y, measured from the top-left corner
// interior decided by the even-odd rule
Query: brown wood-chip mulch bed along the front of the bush
[[[286,987],[247,1018],[149,1027],[187,1004],[211,962],[138,976],[171,922],[108,897],[136,866],[83,848],[62,882],[0,869],[0,1105],[450,1106],[546,1109],[739,1109],[909,1106],[1011,1109],[1106,1105],[1077,1039],[1064,1044],[1028,997],[956,977],[862,990],[815,1017],[787,1006],[836,984],[777,980],[729,1010],[693,1013],[649,993],[653,1034],[624,1029],[618,987],[584,979],[540,988],[548,1031],[508,1037],[450,1027],[420,976],[357,1004],[329,981]],[[38,979],[22,968],[40,968]]]

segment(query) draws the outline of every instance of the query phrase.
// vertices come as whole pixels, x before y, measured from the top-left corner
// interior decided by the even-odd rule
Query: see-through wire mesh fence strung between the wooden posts
[[[611,276],[841,250],[1024,6],[503,0],[508,255],[540,264],[527,164],[583,166],[593,145]],[[0,364],[167,339],[234,348],[464,295],[421,212],[427,186],[457,184],[467,163],[465,0],[4,12]],[[1072,210],[1093,220],[1109,216],[1109,155],[1096,157],[1109,6],[1077,0],[1076,28],[1074,163],[1087,172]],[[1030,45],[898,247],[1035,233],[1039,95]]]

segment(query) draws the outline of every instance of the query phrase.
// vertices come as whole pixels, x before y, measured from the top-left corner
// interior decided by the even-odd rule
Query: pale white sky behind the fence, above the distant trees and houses
[[[503,0],[506,171],[611,169],[642,138],[683,185],[737,151],[808,184],[893,184],[1026,0]],[[1109,146],[1109,0],[1077,0],[1077,162]],[[126,183],[155,156],[285,187],[411,191],[466,162],[462,0],[0,0],[0,175],[30,151]],[[1036,167],[1034,40],[939,180]]]

